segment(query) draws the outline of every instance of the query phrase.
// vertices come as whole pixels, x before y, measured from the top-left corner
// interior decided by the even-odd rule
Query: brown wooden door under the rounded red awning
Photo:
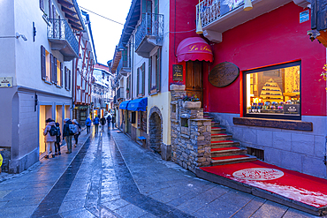
[[[203,100],[203,64],[201,61],[186,62],[186,94]],[[203,101],[202,101],[203,105]]]

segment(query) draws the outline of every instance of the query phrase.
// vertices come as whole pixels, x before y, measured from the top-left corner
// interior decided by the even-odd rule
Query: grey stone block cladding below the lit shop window
[[[315,177],[327,178],[324,155],[326,154],[326,117],[302,116],[301,121],[313,124],[312,132],[293,131],[233,124],[233,117],[240,114],[209,113],[224,125],[241,147],[264,151],[264,161],[285,169],[293,169]]]

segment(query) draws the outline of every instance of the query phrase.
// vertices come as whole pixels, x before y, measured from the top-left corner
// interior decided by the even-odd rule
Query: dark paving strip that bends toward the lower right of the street
[[[110,135],[109,135],[110,138]],[[157,217],[194,217],[193,215],[186,214],[179,209],[168,206],[156,199],[141,194],[133,177],[127,168],[125,161],[120,154],[119,148],[113,139],[110,139],[110,151],[115,165],[115,172],[118,178],[118,186],[120,190],[120,197],[125,201],[140,207],[150,214]]]

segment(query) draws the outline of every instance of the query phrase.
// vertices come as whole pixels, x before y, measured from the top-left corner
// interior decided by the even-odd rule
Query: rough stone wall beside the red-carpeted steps
[[[195,172],[211,161],[211,121],[203,109],[183,108],[185,91],[171,91],[171,160]]]

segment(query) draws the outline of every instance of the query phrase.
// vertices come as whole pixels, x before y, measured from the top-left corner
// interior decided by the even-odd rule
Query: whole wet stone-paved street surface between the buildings
[[[197,178],[117,129],[62,150],[0,177],[0,217],[316,217]]]

